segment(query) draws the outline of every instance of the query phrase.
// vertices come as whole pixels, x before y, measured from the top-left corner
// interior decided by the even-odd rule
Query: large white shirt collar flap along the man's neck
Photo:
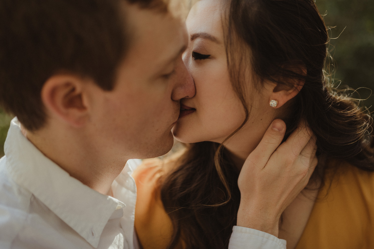
[[[94,248],[113,211],[125,204],[102,195],[71,177],[47,158],[21,132],[17,118],[4,145],[6,167],[13,180],[28,189]]]

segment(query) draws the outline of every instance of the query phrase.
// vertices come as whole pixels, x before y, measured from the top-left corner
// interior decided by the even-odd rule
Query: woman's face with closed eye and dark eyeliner
[[[181,142],[223,142],[245,119],[243,105],[230,82],[221,4],[221,0],[200,0],[187,17],[190,41],[183,60],[194,79],[196,95],[181,101],[181,109],[187,110],[181,110],[172,130]],[[253,82],[245,83],[250,116],[240,132],[249,131],[251,135],[246,139],[253,144],[258,140],[255,133],[262,137],[274,111],[269,107],[266,89],[251,90]],[[194,110],[188,110],[191,108]]]

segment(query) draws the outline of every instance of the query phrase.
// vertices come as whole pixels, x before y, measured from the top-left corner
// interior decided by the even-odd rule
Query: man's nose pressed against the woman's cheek
[[[195,96],[195,83],[182,59],[179,60],[178,67],[175,70],[175,85],[171,95],[172,100],[177,101],[182,98],[192,98]]]

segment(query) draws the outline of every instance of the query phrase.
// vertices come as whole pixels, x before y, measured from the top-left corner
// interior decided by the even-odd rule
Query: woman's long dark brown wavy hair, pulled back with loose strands
[[[243,68],[251,63],[258,87],[264,80],[304,82],[293,100],[291,118],[285,120],[285,138],[304,119],[317,137],[321,162],[344,160],[374,171],[372,118],[359,101],[335,89],[327,76],[328,33],[315,2],[231,0],[223,13],[227,13],[223,24],[229,72],[246,111],[245,122],[249,111],[243,94]],[[242,45],[249,48],[249,59],[243,56],[245,53],[238,53]],[[306,75],[291,70],[300,67],[306,69]],[[240,203],[240,172],[223,144],[187,145],[174,170],[163,179],[161,198],[174,226],[169,248],[180,239],[186,248],[228,247]],[[318,167],[316,174],[328,164]],[[314,177],[321,180],[322,175]]]

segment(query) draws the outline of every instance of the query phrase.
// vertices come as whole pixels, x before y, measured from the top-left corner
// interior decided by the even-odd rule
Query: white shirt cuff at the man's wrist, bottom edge
[[[286,249],[286,240],[248,227],[233,227],[229,249]]]

